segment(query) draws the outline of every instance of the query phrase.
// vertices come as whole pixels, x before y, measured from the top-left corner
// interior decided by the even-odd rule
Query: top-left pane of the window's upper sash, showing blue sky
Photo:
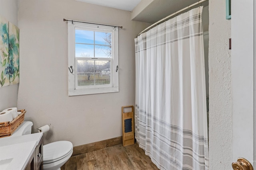
[[[94,31],[76,29],[76,43],[94,44]]]

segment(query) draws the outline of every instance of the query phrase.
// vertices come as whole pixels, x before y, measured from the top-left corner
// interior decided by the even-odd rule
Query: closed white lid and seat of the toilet
[[[52,162],[57,160],[73,150],[73,145],[70,141],[56,141],[43,146],[44,162]]]

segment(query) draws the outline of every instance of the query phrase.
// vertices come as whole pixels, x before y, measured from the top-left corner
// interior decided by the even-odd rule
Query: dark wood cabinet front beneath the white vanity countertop
[[[25,170],[43,170],[43,142],[42,138],[36,146]]]

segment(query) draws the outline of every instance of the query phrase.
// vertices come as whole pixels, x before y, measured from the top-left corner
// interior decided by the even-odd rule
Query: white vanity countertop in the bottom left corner
[[[42,135],[0,138],[0,170],[24,170]]]

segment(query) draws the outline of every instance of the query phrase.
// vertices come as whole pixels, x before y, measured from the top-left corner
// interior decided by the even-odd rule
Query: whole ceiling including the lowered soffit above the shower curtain
[[[131,11],[132,12],[131,20],[147,22],[147,23],[155,23],[156,21],[161,20],[162,18],[178,10],[181,10],[182,8],[185,8],[191,4],[194,4],[195,2],[198,2],[198,0],[77,0],[77,1]],[[206,7],[208,6],[208,4],[209,2],[206,1],[198,6],[202,5]],[[205,10],[208,11],[208,8],[206,8]],[[207,15],[204,15],[206,20],[204,21],[204,23],[207,25],[209,22],[208,20],[209,16],[208,16],[208,12],[205,12],[205,13]],[[207,26],[207,30],[208,30],[208,26]]]

